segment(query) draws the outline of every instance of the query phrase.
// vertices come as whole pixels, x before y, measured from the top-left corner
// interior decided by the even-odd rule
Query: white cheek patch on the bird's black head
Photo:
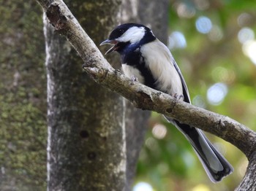
[[[118,42],[140,42],[145,34],[144,27],[133,26],[129,28],[122,36],[116,39]]]

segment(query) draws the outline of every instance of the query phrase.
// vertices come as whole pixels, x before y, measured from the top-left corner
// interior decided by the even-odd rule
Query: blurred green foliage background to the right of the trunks
[[[243,28],[249,28],[255,34],[255,8],[255,2],[249,0],[173,0],[169,11],[170,42],[173,42],[171,38],[175,31],[186,39],[185,47],[174,46],[171,52],[184,74],[192,104],[229,116],[252,130],[256,130],[256,63],[244,54],[244,44],[238,41],[238,34]],[[211,31],[206,34],[196,28],[196,22],[202,16],[211,20]],[[182,39],[178,40],[182,44]],[[255,37],[251,40],[255,41]],[[256,55],[256,49],[254,52]],[[227,94],[218,104],[212,104],[207,93],[216,83],[225,85]],[[159,124],[167,129],[161,139],[154,133]],[[137,182],[148,182],[154,190],[193,191],[234,190],[241,182],[247,160],[233,145],[207,133],[235,168],[232,175],[213,184],[192,147],[173,125],[154,113],[149,127],[138,163]]]

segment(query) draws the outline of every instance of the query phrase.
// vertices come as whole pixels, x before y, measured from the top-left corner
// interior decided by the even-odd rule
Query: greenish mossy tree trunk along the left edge
[[[45,190],[42,8],[32,0],[0,5],[0,190]]]

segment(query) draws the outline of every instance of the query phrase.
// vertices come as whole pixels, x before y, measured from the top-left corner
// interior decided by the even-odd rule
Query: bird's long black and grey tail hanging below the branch
[[[200,162],[203,164],[203,168],[206,170],[212,182],[219,182],[222,178],[233,172],[232,165],[214,148],[201,130],[181,124],[176,120],[167,120],[174,123],[176,128],[192,144],[193,149],[195,149]]]

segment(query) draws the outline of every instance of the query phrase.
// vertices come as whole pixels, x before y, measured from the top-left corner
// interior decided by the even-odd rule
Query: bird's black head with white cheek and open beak
[[[127,47],[128,44],[140,43],[143,39],[145,40],[144,43],[146,43],[148,40],[153,41],[156,37],[154,37],[151,29],[146,26],[136,23],[125,23],[117,26],[110,33],[109,38],[100,45],[113,45],[113,47],[105,52],[105,55],[108,55],[113,51],[121,52],[121,50],[124,50],[124,47]]]

